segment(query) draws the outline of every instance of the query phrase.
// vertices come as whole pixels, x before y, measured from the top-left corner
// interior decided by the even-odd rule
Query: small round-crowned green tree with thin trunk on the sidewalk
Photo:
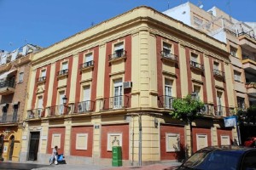
[[[204,107],[204,103],[200,99],[195,99],[191,95],[187,95],[184,99],[174,99],[172,103],[173,111],[170,115],[174,119],[179,119],[190,127],[191,138],[191,153],[193,153],[193,136],[192,136],[192,122],[199,116],[201,116],[201,109]]]

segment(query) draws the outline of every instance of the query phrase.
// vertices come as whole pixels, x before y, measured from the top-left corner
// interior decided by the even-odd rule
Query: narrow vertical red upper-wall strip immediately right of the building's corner
[[[161,60],[162,37],[156,36],[156,68],[157,68],[157,91],[160,96],[164,95],[163,89],[163,68]]]

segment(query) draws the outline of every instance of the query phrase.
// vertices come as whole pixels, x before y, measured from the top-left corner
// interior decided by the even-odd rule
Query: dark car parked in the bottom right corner
[[[255,170],[256,149],[241,146],[211,146],[196,151],[175,169]]]

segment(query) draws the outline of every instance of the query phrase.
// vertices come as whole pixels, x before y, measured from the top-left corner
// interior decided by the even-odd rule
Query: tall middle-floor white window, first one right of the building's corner
[[[172,81],[165,79],[165,107],[168,109],[172,108]]]

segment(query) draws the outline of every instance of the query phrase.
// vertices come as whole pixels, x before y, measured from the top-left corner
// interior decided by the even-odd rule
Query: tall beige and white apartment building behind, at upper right
[[[205,11],[192,3],[183,3],[164,14],[225,42],[233,65],[236,107],[256,105],[256,23],[236,20],[216,7]]]

